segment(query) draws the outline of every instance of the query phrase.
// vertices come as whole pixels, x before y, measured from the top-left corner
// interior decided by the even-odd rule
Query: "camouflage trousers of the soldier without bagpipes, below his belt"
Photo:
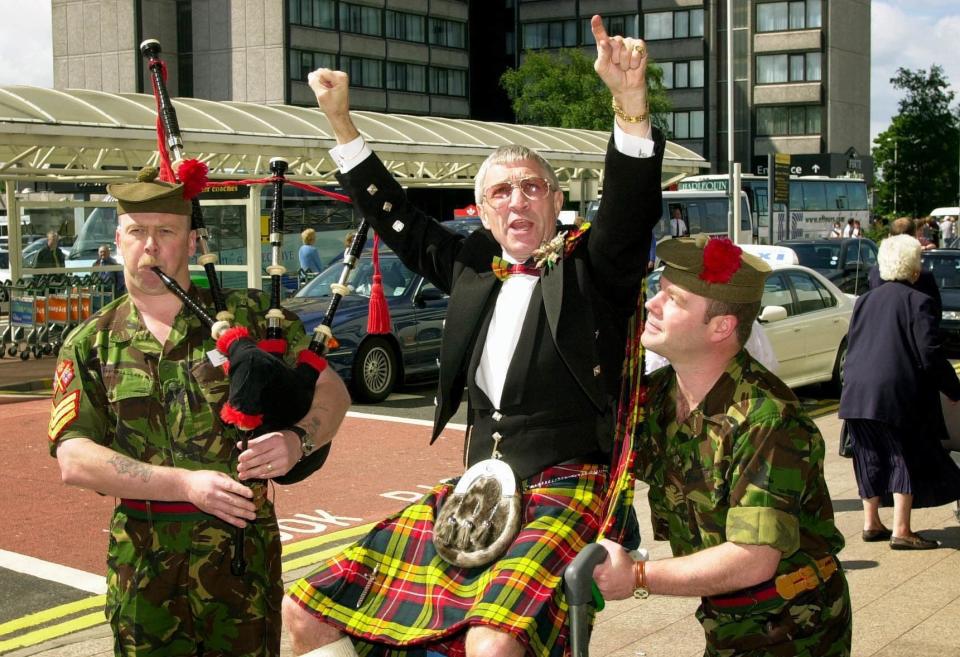
[[[775,598],[744,608],[697,610],[707,635],[704,657],[849,657],[853,631],[843,571],[789,602]]]

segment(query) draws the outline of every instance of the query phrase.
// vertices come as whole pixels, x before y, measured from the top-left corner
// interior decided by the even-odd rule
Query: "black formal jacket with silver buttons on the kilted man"
[[[651,230],[660,218],[664,138],[650,158],[623,155],[611,139],[600,209],[573,253],[541,274],[550,332],[566,366],[598,414],[619,393],[626,326],[636,310]],[[440,355],[433,436],[460,405],[472,349],[500,282],[490,264],[502,248],[492,234],[463,236],[408,204],[375,155],[338,175],[361,215],[411,269],[450,294]],[[535,385],[535,373],[531,384]]]

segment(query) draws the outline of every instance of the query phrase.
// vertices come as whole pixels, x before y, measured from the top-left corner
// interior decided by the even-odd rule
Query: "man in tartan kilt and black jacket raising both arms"
[[[560,583],[599,531],[626,331],[660,215],[664,152],[647,116],[643,42],[609,37],[598,16],[592,29],[594,68],[616,119],[603,200],[582,231],[558,232],[556,173],[525,146],[497,149],[477,173],[484,229],[448,230],[410,206],[370,152],[350,119],[347,76],[310,74],[337,139],[331,156],[344,189],[408,267],[450,294],[433,439],[466,386],[465,462],[509,466],[522,526],[492,562],[454,565],[435,544],[434,522],[456,494],[453,483],[437,485],[294,584],[284,623],[296,654],[350,656],[354,644],[375,644],[559,657],[567,647]]]

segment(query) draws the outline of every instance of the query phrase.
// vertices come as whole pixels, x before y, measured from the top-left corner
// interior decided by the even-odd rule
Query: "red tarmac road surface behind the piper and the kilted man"
[[[117,503],[64,485],[46,438],[50,400],[0,406],[0,549],[91,573],[106,572],[107,530]],[[293,486],[275,486],[284,545],[375,520],[461,469],[463,432],[446,430],[429,446],[427,426],[344,420],[326,465]]]

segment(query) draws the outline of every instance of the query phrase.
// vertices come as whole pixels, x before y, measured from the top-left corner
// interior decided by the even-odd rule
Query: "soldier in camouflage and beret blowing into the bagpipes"
[[[106,607],[116,655],[275,656],[283,585],[265,481],[297,464],[309,448],[303,436],[328,443],[349,397],[327,368],[299,423],[303,436],[272,431],[240,451],[239,431],[219,417],[229,383],[212,362],[210,332],[150,269],[159,266],[212,306],[209,293],[190,284],[190,201],[181,185],[152,176],[109,187],[128,294],[64,343],[50,451],[64,482],[119,498]],[[231,291],[226,303],[255,339],[265,335],[267,295]],[[292,316],[284,323],[289,357],[306,336]],[[235,527],[246,527],[240,576],[230,572]]]

